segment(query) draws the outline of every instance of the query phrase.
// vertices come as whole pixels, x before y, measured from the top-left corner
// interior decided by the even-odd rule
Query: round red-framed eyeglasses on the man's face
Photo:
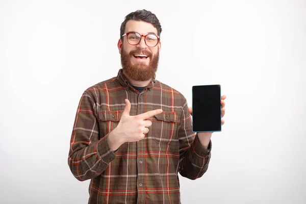
[[[122,37],[125,35],[127,38],[127,42],[130,45],[137,45],[138,43],[140,43],[142,36],[144,37],[145,44],[149,47],[155,47],[160,40],[160,37],[154,34],[140,35],[136,32],[130,32],[125,33],[124,35],[122,35]]]

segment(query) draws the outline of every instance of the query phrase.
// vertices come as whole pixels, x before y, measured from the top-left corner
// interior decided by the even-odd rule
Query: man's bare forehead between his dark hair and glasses
[[[157,35],[157,29],[154,26],[145,21],[129,20],[126,22],[124,33],[137,32],[139,34],[155,33]]]

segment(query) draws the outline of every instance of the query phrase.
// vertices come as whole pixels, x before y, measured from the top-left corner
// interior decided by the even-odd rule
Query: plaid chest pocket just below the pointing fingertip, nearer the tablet
[[[176,112],[163,112],[155,115],[152,122],[152,139],[158,143],[170,143],[177,139],[180,118]]]

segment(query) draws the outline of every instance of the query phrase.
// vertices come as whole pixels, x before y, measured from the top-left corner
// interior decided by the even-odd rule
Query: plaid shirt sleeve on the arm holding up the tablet
[[[180,142],[179,172],[188,179],[198,179],[208,169],[212,143],[210,141],[206,149],[201,145],[198,135],[192,132],[192,121],[188,112],[187,101],[183,106],[178,134]]]

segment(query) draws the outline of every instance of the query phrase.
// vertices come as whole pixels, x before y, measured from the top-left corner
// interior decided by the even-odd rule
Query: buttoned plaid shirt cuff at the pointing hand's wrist
[[[106,164],[111,163],[116,158],[115,152],[111,149],[108,143],[108,136],[107,134],[105,137],[100,139],[97,143],[96,151],[100,160]]]

